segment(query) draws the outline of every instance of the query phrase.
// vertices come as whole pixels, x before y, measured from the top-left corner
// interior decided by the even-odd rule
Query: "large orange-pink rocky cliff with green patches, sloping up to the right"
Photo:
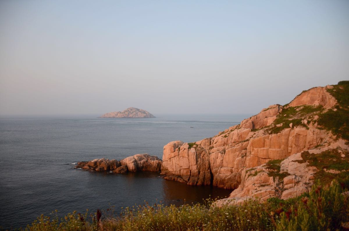
[[[348,163],[348,95],[349,81],[312,88],[214,137],[172,141],[164,146],[161,174],[189,185],[235,189],[218,205],[300,195],[320,171],[349,171],[339,163],[325,170],[319,169],[319,161],[310,163],[312,155],[325,156],[324,162],[332,156],[332,162]]]

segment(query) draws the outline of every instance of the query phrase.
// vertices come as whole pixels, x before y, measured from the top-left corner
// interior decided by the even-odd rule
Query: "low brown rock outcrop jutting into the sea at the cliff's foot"
[[[82,161],[77,163],[75,168],[81,168],[89,171],[112,171],[114,173],[150,171],[159,172],[162,161],[157,156],[149,154],[136,154],[129,156],[121,161],[115,159],[94,159],[92,161]]]

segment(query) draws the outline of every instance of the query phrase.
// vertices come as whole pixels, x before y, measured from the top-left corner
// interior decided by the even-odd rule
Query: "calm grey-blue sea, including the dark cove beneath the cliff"
[[[164,180],[158,173],[110,174],[73,169],[74,162],[122,159],[138,153],[162,158],[173,140],[211,137],[250,115],[158,115],[150,119],[30,117],[0,119],[0,226],[19,228],[40,214],[150,204],[201,202],[230,191]],[[194,127],[194,128],[190,128]]]

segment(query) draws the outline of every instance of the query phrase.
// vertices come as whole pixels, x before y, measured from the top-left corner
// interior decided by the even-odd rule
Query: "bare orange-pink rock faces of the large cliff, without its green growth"
[[[313,88],[297,96],[289,106],[303,104],[330,108],[336,104],[336,100],[326,88]],[[281,114],[283,108],[278,104],[271,105],[259,114],[243,120],[240,125],[190,145],[182,141],[168,143],[164,146],[161,174],[165,175],[165,179],[190,185],[212,184],[224,188],[237,188],[231,196],[238,202],[253,196],[265,201],[275,195],[288,198],[304,192],[309,188],[307,184],[313,179],[313,169],[305,169],[303,165],[297,168],[297,163],[296,166],[290,164],[288,170],[294,176],[292,179],[304,184],[286,183],[282,186],[285,192],[281,193],[275,188],[277,183],[273,181],[273,177],[270,178],[265,170],[255,168],[258,169],[273,159],[288,159],[304,150],[314,149],[319,144],[333,143],[334,137],[331,132],[317,127],[317,115],[301,118],[305,126],[286,121],[283,123],[286,123],[287,128],[276,134],[270,133],[270,126],[283,126],[283,123],[274,124],[278,116],[284,116]],[[290,124],[292,125],[289,126]],[[343,144],[337,146],[345,148]],[[250,173],[257,175],[248,178],[247,169],[253,169]],[[305,174],[306,171],[309,174]],[[298,176],[299,173],[307,177]],[[292,181],[290,179],[291,177],[285,180]],[[311,186],[311,183],[309,185]]]

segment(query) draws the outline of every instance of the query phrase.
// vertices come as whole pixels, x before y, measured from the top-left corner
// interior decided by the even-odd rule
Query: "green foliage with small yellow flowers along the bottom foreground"
[[[41,216],[25,230],[340,230],[342,222],[349,222],[349,198],[341,193],[340,184],[333,181],[289,200],[250,200],[222,208],[209,200],[180,207],[146,204],[126,208],[116,217],[73,213],[59,221]]]

